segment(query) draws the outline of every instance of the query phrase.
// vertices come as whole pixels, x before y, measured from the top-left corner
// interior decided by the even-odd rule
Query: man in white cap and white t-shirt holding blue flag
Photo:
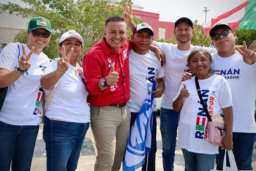
[[[133,48],[129,51],[129,68],[130,68],[130,100],[128,106],[131,111],[131,124],[134,124],[141,106],[149,93],[148,86],[152,86],[154,79],[157,82],[157,90],[152,91],[155,98],[161,97],[164,92],[164,70],[161,67],[155,53],[149,50],[149,46],[153,40],[153,29],[147,23],[138,24],[131,36]],[[156,105],[155,105],[156,106]],[[155,107],[154,106],[154,107]],[[155,155],[156,155],[156,114],[153,113],[152,122],[152,139],[149,155],[146,155],[145,164],[142,171],[155,171]],[[148,160],[147,160],[148,157]]]

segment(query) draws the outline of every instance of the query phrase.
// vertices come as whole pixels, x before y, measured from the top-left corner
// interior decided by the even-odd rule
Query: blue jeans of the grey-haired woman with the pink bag
[[[181,149],[187,171],[208,171],[214,169],[216,154],[201,154]]]

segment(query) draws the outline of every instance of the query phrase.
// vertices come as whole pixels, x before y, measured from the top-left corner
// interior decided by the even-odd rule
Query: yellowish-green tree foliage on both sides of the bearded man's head
[[[194,35],[191,39],[191,44],[192,45],[203,44],[205,46],[209,46],[211,43],[211,37],[209,35],[205,35],[204,28],[201,25],[198,25],[197,23],[198,23],[198,21],[195,20],[194,21]],[[156,41],[177,44],[177,40],[175,38],[174,32],[172,32],[170,39],[168,39],[168,40],[158,39]]]

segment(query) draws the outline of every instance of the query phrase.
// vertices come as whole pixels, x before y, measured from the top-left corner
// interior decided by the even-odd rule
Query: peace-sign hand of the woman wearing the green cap
[[[28,55],[26,55],[26,50],[25,50],[25,47],[24,45],[22,45],[22,56],[20,57],[20,59],[18,60],[19,62],[19,68],[21,70],[28,70],[29,67],[31,66],[31,63],[30,63],[30,57],[32,55],[32,53],[34,52],[34,46],[32,46],[30,52]]]

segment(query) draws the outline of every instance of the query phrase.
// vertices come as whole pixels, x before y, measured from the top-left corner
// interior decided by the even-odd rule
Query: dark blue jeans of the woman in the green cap
[[[18,126],[0,121],[0,170],[29,171],[39,125]]]

